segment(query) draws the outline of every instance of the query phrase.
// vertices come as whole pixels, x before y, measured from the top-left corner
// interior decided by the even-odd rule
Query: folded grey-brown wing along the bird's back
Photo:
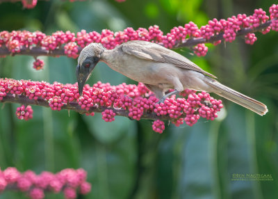
[[[170,63],[172,65],[176,65],[177,67],[182,67],[187,70],[195,70],[197,72],[201,72],[202,74],[216,78],[213,74],[202,70],[201,67],[197,66],[188,58],[152,42],[140,40],[129,41],[122,44],[122,51],[127,54],[137,56],[138,58],[161,63]]]

